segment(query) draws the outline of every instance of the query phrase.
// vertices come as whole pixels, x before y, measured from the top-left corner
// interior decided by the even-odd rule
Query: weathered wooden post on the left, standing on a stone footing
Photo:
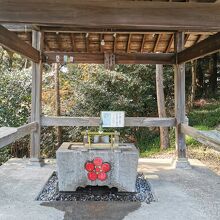
[[[43,48],[43,33],[32,32],[32,46],[38,50]],[[42,94],[42,61],[32,62],[32,92],[31,92],[31,121],[38,123],[38,128],[31,134],[31,162],[40,162],[40,133],[41,133],[41,94]]]

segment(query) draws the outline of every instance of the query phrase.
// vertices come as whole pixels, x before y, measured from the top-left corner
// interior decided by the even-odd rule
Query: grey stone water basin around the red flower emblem
[[[133,144],[121,144],[117,149],[85,149],[82,143],[63,143],[56,152],[60,191],[75,191],[77,187],[108,186],[119,191],[135,192],[139,152]],[[111,165],[107,179],[88,179],[85,164],[101,158]]]

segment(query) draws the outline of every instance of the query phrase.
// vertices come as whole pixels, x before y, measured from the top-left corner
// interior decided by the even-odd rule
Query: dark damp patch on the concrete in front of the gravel
[[[139,202],[43,202],[43,206],[65,212],[64,220],[122,220],[140,208]]]

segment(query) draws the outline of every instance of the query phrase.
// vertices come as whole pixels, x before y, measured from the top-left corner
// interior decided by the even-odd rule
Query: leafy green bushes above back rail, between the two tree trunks
[[[123,110],[127,116],[155,115],[154,71],[145,65],[120,65],[115,71],[101,65],[72,66],[69,80],[76,99],[69,114],[98,116],[103,110]]]

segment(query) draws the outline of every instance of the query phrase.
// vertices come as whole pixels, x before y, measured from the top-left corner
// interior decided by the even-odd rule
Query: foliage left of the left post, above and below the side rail
[[[0,127],[18,127],[30,116],[31,74],[29,63],[0,49]],[[0,164],[12,156],[29,155],[29,138],[0,149]]]

